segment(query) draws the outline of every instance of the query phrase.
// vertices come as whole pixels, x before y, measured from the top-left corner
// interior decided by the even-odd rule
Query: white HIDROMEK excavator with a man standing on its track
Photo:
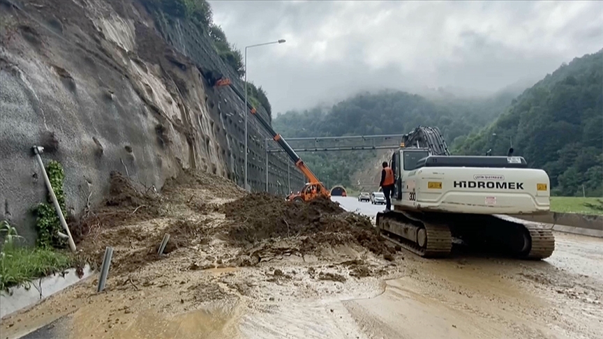
[[[389,162],[392,210],[377,213],[378,232],[421,257],[447,257],[453,243],[521,259],[555,250],[551,229],[506,215],[548,213],[549,176],[521,156],[451,156],[438,128],[402,137]]]

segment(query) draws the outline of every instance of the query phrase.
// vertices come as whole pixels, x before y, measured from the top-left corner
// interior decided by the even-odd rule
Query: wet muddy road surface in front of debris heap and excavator
[[[384,209],[355,197],[333,199],[367,216]],[[287,265],[286,260],[263,269],[220,273],[226,279],[223,285],[237,274],[253,273],[258,280],[241,281],[263,289],[234,306],[218,303],[177,315],[165,309],[186,306],[188,295],[177,294],[174,302],[170,294],[177,289],[172,287],[119,289],[84,299],[76,290],[13,317],[2,329],[15,329],[34,317],[43,320],[45,312],[57,309],[50,308],[54,304],[66,311],[73,307],[73,315],[21,338],[603,339],[603,239],[555,235],[555,253],[538,262],[466,254],[434,260],[403,252],[392,263],[398,273],[385,281],[350,278],[344,285],[306,277],[266,283],[269,276],[262,272]],[[285,272],[293,268],[280,267]],[[299,296],[304,286],[311,293]],[[144,312],[133,308],[144,300],[152,307]],[[124,311],[124,302],[134,311]],[[76,303],[83,305],[76,308]]]

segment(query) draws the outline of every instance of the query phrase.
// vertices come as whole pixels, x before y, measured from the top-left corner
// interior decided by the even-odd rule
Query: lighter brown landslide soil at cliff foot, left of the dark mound
[[[214,197],[232,199],[243,194],[227,179],[188,169],[168,179],[161,194],[153,186],[112,172],[107,197],[81,218],[70,218],[69,226],[82,260],[99,266],[105,248],[112,246],[112,271],[131,272],[161,259],[157,250],[165,234],[170,234],[170,241],[164,254],[208,243],[207,222],[197,216],[215,209],[210,203]]]

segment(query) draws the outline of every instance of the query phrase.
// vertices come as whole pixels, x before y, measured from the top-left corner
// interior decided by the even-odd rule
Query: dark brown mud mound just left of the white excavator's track
[[[347,212],[330,199],[300,204],[267,193],[253,193],[225,204],[223,212],[232,220],[229,239],[242,246],[268,239],[303,238],[303,252],[327,244],[352,243],[378,255],[395,252],[374,231],[368,218]]]

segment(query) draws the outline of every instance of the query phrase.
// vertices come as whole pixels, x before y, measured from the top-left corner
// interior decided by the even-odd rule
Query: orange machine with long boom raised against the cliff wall
[[[237,87],[232,86],[232,82],[230,79],[223,77],[220,73],[213,72],[208,70],[203,73],[205,80],[209,83],[210,86],[221,87],[221,86],[230,86],[230,89],[234,91],[241,100],[244,100],[244,96],[237,89]],[[285,151],[287,156],[289,156],[290,160],[295,164],[295,167],[299,169],[299,171],[308,178],[308,182],[304,185],[301,190],[297,193],[290,193],[286,199],[291,202],[309,202],[317,197],[325,197],[327,199],[331,198],[331,192],[325,185],[322,184],[320,180],[316,177],[316,175],[306,166],[304,160],[301,160],[294,149],[283,139],[283,137],[276,133],[276,131],[270,126],[270,124],[265,121],[265,119],[258,114],[258,111],[255,110],[255,107],[251,105],[251,103],[247,102],[247,109],[251,115],[255,116],[255,119],[258,119],[260,125],[269,133],[272,139],[281,146],[281,148]]]

